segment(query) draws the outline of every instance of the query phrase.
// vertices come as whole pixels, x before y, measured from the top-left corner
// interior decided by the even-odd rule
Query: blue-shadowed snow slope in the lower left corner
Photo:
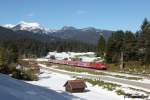
[[[61,93],[0,74],[0,100],[69,100]]]

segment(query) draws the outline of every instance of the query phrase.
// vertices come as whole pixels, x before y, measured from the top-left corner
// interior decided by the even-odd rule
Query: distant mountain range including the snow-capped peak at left
[[[16,25],[7,24],[4,27],[12,29],[15,32],[28,31],[27,33],[36,33],[43,34],[49,37],[56,37],[63,40],[73,40],[79,41],[88,44],[96,44],[100,35],[103,35],[105,39],[111,35],[112,31],[109,30],[100,30],[93,27],[87,28],[75,28],[72,26],[64,26],[61,29],[53,30],[42,27],[40,24],[36,22],[28,23],[28,22],[20,22]]]

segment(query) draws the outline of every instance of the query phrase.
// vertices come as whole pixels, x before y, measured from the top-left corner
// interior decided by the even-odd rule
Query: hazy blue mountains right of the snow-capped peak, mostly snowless
[[[65,26],[62,29],[49,35],[62,39],[70,39],[84,43],[96,44],[100,35],[103,35],[105,39],[108,39],[111,33],[112,31],[95,29],[93,27],[77,29],[71,26]]]

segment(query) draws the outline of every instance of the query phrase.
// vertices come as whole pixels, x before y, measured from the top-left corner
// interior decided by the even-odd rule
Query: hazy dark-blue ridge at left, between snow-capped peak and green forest
[[[34,39],[41,42],[61,41],[58,37],[47,34],[36,34],[26,30],[12,30],[0,26],[0,40]]]

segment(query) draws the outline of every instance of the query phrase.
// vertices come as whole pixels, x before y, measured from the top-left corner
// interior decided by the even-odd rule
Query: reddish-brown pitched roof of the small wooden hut
[[[70,85],[71,89],[86,88],[86,84],[82,80],[68,80],[64,86]]]

